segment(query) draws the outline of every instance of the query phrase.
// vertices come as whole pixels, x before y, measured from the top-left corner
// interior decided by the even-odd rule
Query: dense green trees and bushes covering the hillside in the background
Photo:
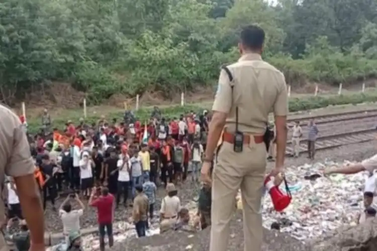
[[[300,3],[300,4],[299,4]],[[51,81],[91,104],[113,94],[166,96],[216,83],[242,26],[266,32],[263,57],[287,82],[377,76],[377,0],[4,0],[0,96],[12,104]]]

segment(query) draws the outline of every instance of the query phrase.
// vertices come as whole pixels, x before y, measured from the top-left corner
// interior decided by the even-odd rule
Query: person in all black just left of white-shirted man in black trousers
[[[108,148],[110,157],[105,161],[105,180],[108,183],[109,192],[113,195],[117,194],[118,184],[118,156],[114,148]]]

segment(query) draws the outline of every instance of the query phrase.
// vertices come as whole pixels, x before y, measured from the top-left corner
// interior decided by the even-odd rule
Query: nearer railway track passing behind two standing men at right
[[[327,150],[331,148],[336,148],[340,146],[345,146],[349,144],[363,143],[372,141],[376,136],[376,129],[362,129],[353,132],[333,134],[320,136],[316,140],[316,151],[318,150]],[[300,142],[300,153],[307,152],[307,143],[308,140],[304,139]],[[287,142],[286,155],[293,155],[292,142]]]

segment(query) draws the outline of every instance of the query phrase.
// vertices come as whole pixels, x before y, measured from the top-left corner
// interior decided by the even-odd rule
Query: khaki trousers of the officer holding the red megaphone
[[[224,142],[213,171],[210,251],[229,251],[230,220],[236,195],[241,189],[244,251],[261,251],[262,216],[260,204],[266,171],[266,147],[252,141],[242,153]]]

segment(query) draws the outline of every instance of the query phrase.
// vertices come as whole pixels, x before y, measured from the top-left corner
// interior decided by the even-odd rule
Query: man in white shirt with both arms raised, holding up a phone
[[[72,210],[69,198],[74,198],[80,205],[80,209]],[[71,232],[80,232],[80,217],[84,213],[84,204],[81,202],[77,194],[69,194],[59,208],[59,217],[63,223],[63,235],[66,240]]]

